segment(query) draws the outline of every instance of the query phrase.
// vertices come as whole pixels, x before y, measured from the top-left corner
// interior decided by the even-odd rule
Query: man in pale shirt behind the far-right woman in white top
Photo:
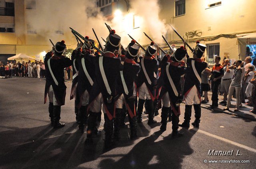
[[[252,57],[248,56],[244,59],[244,72],[247,72],[248,71],[248,67],[249,66],[252,66]],[[245,103],[245,90],[247,88],[249,84],[249,81],[244,81],[244,76],[242,78],[242,88],[241,88],[241,91],[240,91],[240,105],[242,106],[242,103]]]

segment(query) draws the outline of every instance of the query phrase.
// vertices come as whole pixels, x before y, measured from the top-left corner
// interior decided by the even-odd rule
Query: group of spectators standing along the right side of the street
[[[205,61],[205,58],[201,58]],[[215,57],[215,65],[212,67],[212,73],[202,72],[202,103],[209,102],[208,91],[210,84],[212,90],[211,108],[218,107],[218,104],[226,106],[223,110],[229,110],[230,103],[236,98],[234,111],[246,104],[252,106],[250,112],[256,113],[256,71],[255,65],[252,65],[252,57],[246,57],[244,61],[238,60],[231,65],[230,59]],[[218,96],[223,94],[223,100],[218,101]],[[248,99],[245,102],[245,99]]]

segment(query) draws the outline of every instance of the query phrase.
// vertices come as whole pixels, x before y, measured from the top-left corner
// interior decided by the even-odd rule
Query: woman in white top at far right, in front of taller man
[[[244,81],[248,81],[249,82],[249,84],[248,84],[248,86],[246,87],[246,90],[245,90],[246,97],[249,100],[249,102],[245,103],[245,104],[247,104],[248,106],[252,105],[252,100],[251,100],[251,96],[252,96],[252,83],[250,83],[250,81],[252,80],[252,78],[254,76],[254,70],[255,70],[254,66],[249,66],[248,67],[248,71],[246,72],[246,74],[244,76]]]

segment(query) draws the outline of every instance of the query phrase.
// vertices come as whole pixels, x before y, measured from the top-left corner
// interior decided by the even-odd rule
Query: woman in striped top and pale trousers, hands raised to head
[[[228,69],[234,69],[234,75],[228,90],[229,94],[228,94],[227,106],[223,110],[229,110],[230,101],[232,97],[231,93],[233,93],[234,90],[236,90],[236,108],[234,111],[238,111],[238,108],[240,105],[240,90],[242,87],[242,77],[244,76],[244,62],[240,60],[236,61],[235,64],[228,67]]]

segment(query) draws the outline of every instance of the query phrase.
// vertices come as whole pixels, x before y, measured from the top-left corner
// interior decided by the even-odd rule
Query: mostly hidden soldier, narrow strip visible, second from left
[[[75,98],[75,115],[76,115],[76,121],[78,121],[78,108],[77,108],[77,96],[76,96],[76,87],[77,87],[77,81],[78,81],[78,62],[77,62],[77,50],[74,50],[71,55],[71,61],[72,61],[72,87],[70,92],[70,100]]]

